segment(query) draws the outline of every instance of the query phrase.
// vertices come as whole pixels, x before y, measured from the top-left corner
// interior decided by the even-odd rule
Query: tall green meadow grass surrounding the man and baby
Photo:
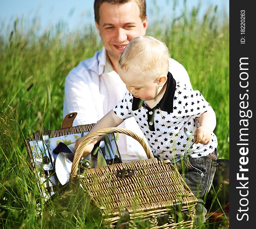
[[[197,9],[184,11],[175,20],[151,23],[147,35],[167,44],[193,89],[211,104],[219,158],[229,158],[229,19],[217,13],[209,8],[199,20]],[[24,147],[32,132],[60,128],[65,76],[102,48],[99,37],[88,27],[73,34],[52,29],[38,37],[36,25],[25,26],[22,19],[9,29],[7,41],[0,36],[0,227],[100,227],[100,220],[83,223],[92,214],[88,208],[63,212],[60,202],[44,204]]]

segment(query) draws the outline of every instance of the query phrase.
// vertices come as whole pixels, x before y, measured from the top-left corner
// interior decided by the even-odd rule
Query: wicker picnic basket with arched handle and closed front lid
[[[79,174],[84,147],[92,139],[117,132],[138,140],[148,159],[87,169]],[[70,187],[78,184],[99,208],[106,227],[137,228],[136,222],[143,221],[143,228],[193,228],[196,197],[170,161],[154,158],[143,139],[128,129],[106,128],[83,140],[76,150],[69,180]]]

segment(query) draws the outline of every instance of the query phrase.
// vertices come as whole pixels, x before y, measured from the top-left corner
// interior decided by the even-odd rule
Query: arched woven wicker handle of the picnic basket
[[[78,163],[80,161],[81,156],[83,155],[84,152],[84,148],[86,147],[86,145],[88,145],[93,139],[96,139],[97,137],[100,137],[102,135],[105,134],[112,134],[112,133],[120,133],[120,134],[126,134],[130,137],[133,137],[135,140],[137,140],[142,147],[144,148],[147,158],[154,158],[154,155],[152,154],[151,150],[149,149],[149,147],[146,145],[146,143],[144,142],[144,140],[139,137],[137,134],[135,134],[134,132],[125,129],[125,128],[119,128],[119,127],[111,127],[111,128],[104,128],[104,129],[100,129],[99,131],[96,131],[90,135],[88,135],[78,146],[78,148],[76,149],[76,153],[74,156],[74,160],[72,163],[72,167],[71,167],[71,176],[76,176],[76,172],[77,172],[77,168],[78,168]]]

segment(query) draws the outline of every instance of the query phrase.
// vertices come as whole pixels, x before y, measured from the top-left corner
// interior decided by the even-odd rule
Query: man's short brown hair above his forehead
[[[146,0],[95,0],[94,1],[94,19],[99,24],[100,14],[99,9],[100,5],[104,2],[109,4],[125,4],[127,2],[135,2],[139,6],[139,17],[143,21],[146,17]]]

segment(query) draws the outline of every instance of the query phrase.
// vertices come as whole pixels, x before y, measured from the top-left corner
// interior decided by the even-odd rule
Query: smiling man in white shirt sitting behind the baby
[[[119,57],[130,40],[145,35],[147,29],[145,0],[95,0],[94,15],[104,48],[82,61],[65,81],[63,118],[76,111],[75,126],[96,123],[123,98],[127,89],[117,73]],[[191,87],[180,63],[170,59],[169,71],[177,81]],[[143,137],[134,118],[119,127]],[[146,158],[143,148],[131,137],[120,135],[117,142],[123,162]]]

